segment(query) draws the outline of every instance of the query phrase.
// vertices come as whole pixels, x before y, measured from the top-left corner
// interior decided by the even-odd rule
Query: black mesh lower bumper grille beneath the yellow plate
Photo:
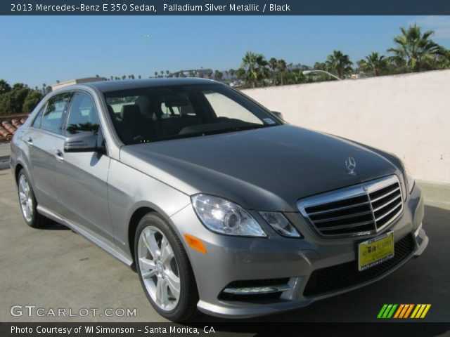
[[[303,295],[316,296],[322,293],[330,293],[332,291],[338,291],[350,286],[368,282],[391,270],[401,263],[401,261],[408,258],[413,251],[413,237],[411,234],[408,234],[394,244],[393,258],[390,258],[379,265],[370,267],[367,270],[359,272],[357,260],[314,270],[309,277]]]

